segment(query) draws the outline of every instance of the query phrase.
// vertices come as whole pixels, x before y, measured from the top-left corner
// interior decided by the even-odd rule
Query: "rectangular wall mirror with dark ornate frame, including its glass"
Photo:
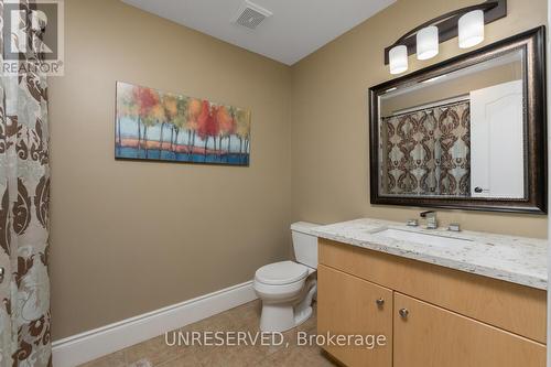
[[[372,204],[547,213],[543,26],[369,99]]]

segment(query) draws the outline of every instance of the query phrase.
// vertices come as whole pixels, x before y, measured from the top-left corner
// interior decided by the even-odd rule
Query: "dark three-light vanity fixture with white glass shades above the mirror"
[[[473,47],[484,41],[484,25],[507,17],[507,0],[486,0],[479,4],[457,9],[436,17],[402,35],[385,48],[385,64],[390,74],[408,69],[408,56],[429,60],[439,54],[439,45],[458,36],[461,48]]]

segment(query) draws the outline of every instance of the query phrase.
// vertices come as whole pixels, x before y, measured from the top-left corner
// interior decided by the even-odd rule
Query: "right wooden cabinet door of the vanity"
[[[545,346],[395,293],[395,367],[544,367]]]

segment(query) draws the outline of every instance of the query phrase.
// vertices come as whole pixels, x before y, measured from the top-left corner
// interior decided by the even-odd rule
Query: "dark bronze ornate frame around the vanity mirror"
[[[440,198],[381,195],[379,193],[379,96],[383,95],[388,89],[413,85],[421,80],[486,62],[516,50],[523,50],[523,74],[526,75],[523,131],[527,139],[525,160],[527,164],[527,197],[493,199],[483,197]],[[545,28],[540,26],[369,88],[369,181],[371,204],[545,214],[548,180],[545,84]]]

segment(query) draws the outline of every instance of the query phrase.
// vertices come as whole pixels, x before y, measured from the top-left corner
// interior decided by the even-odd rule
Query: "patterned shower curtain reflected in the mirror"
[[[469,111],[466,100],[383,117],[381,192],[468,196]]]

